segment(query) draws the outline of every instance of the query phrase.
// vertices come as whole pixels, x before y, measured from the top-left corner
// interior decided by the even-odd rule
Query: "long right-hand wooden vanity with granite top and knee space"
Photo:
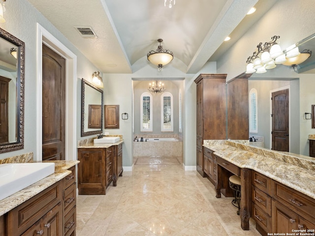
[[[292,230],[314,233],[315,161],[311,157],[251,147],[242,141],[206,140],[203,146],[216,160],[217,198],[227,188],[229,176],[241,177],[243,230],[249,230],[252,217],[262,235]]]

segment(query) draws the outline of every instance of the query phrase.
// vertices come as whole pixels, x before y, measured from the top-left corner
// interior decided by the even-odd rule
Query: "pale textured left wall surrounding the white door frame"
[[[97,70],[77,48],[75,48],[61,32],[59,32],[46,18],[43,17],[27,0],[6,1],[4,12],[5,23],[0,23],[0,28],[13,34],[25,43],[25,114],[24,114],[24,149],[1,153],[0,159],[23,153],[33,152],[36,156],[36,74],[37,74],[37,29],[36,23],[47,29],[70,51],[77,56],[77,137],[81,134],[81,79],[89,80],[92,73]],[[91,81],[91,80],[90,80]]]

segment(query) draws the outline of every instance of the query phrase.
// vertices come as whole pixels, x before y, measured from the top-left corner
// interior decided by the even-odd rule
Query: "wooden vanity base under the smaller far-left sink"
[[[78,189],[83,195],[106,194],[123,173],[122,144],[109,148],[78,148]]]

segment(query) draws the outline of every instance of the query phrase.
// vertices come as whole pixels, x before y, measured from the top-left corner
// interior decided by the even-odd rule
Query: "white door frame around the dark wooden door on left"
[[[42,44],[47,45],[65,58],[65,160],[77,160],[77,56],[55,36],[37,23],[37,74],[36,74],[36,154],[35,160],[42,160]]]

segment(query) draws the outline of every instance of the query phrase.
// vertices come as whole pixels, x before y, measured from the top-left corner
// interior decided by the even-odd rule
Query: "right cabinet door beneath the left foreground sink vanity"
[[[45,236],[62,236],[62,205],[52,208],[43,218],[43,230]]]

